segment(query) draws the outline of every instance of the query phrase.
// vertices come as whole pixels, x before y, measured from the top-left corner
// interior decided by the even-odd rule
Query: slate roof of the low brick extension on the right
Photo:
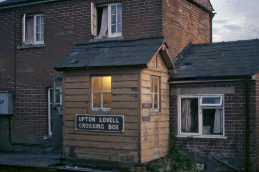
[[[192,44],[174,61],[171,79],[247,76],[259,71],[259,40]]]

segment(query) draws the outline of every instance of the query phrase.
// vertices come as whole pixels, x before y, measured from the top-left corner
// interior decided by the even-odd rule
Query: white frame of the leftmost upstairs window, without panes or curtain
[[[23,45],[25,44],[25,33],[26,33],[26,18],[33,17],[33,42],[34,45],[44,44],[44,29],[43,29],[43,41],[36,41],[36,32],[37,32],[37,17],[44,16],[43,13],[39,14],[23,14]],[[44,27],[44,19],[43,19],[43,27]]]

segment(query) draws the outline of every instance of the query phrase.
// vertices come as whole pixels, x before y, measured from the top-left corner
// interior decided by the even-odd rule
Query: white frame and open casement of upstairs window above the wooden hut
[[[91,30],[92,30],[92,35],[97,37],[98,33],[97,33],[97,7],[104,7],[107,6],[108,7],[108,37],[121,37],[122,36],[122,32],[118,32],[118,33],[112,33],[112,29],[111,29],[111,6],[113,5],[121,5],[121,2],[117,2],[117,3],[109,3],[109,4],[102,4],[102,5],[98,5],[95,6],[92,2],[91,2]]]

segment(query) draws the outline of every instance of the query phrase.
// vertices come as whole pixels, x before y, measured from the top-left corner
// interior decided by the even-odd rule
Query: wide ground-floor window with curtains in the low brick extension
[[[178,96],[179,136],[224,136],[223,95]]]

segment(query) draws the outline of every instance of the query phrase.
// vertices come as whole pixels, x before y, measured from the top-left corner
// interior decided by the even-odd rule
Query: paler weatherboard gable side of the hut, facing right
[[[141,162],[167,154],[169,138],[169,84],[167,66],[157,53],[141,70]],[[159,111],[150,110],[150,76],[159,78]]]

